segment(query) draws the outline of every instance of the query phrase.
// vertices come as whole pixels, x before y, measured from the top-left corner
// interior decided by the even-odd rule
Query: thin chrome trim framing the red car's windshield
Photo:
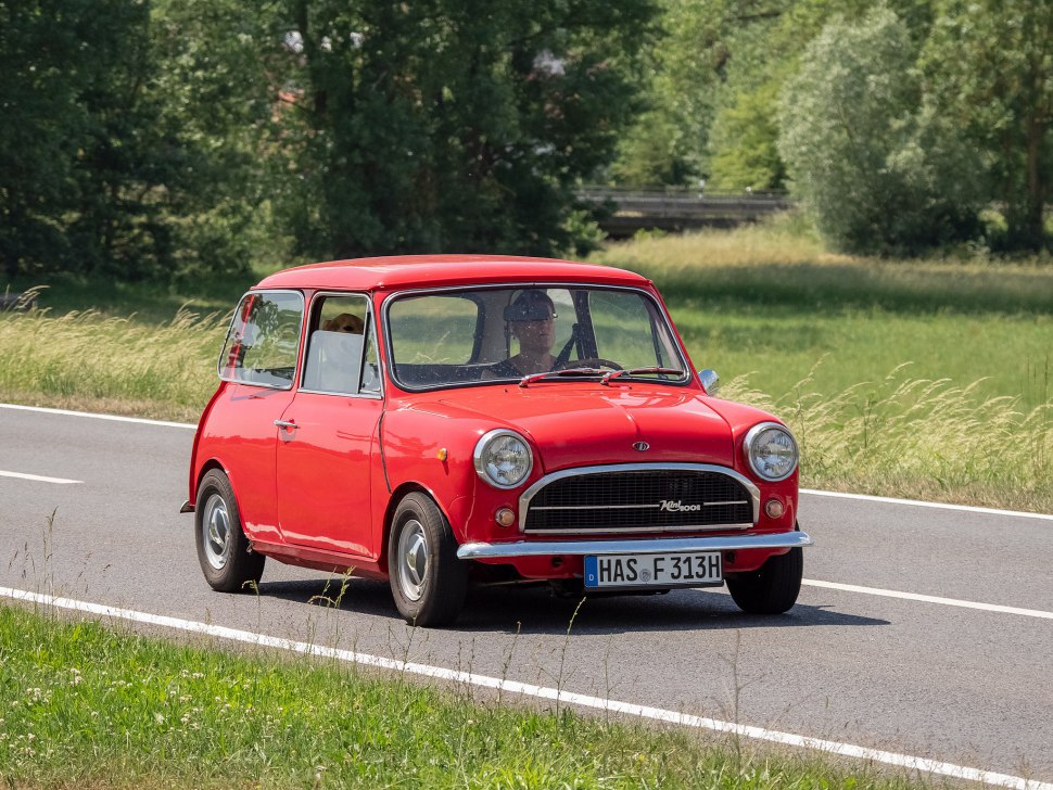
[[[388,374],[391,380],[398,384],[398,386],[406,392],[432,392],[435,390],[453,390],[462,388],[470,386],[492,386],[494,384],[507,384],[508,382],[517,381],[516,379],[489,379],[486,381],[467,381],[460,383],[447,383],[439,384],[435,386],[409,386],[404,384],[395,375],[395,355],[394,348],[391,345],[391,304],[399,298],[409,296],[428,296],[430,294],[442,294],[452,293],[458,291],[515,291],[528,288],[566,288],[566,289],[593,289],[596,291],[629,291],[632,293],[637,293],[649,300],[651,305],[655,307],[656,313],[661,316],[662,321],[665,324],[665,330],[669,332],[669,340],[676,353],[680,355],[682,362],[682,368],[684,370],[684,379],[682,381],[667,381],[663,379],[638,379],[629,378],[626,381],[655,381],[656,383],[662,383],[669,386],[688,386],[693,383],[694,368],[690,365],[690,357],[687,355],[687,349],[684,347],[683,341],[680,334],[676,332],[676,328],[673,326],[673,321],[669,316],[669,311],[664,308],[659,300],[657,300],[654,294],[648,292],[638,285],[606,285],[597,284],[588,281],[584,282],[567,282],[564,281],[523,281],[523,282],[497,282],[497,283],[482,283],[478,285],[441,285],[437,288],[410,288],[402,291],[394,291],[384,297],[381,304],[381,318],[384,327],[384,351],[386,352],[388,359],[385,360],[385,367],[388,368]]]

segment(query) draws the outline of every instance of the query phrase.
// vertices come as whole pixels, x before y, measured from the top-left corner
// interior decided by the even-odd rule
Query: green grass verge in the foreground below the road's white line
[[[812,754],[0,607],[8,787],[909,787]],[[857,768],[859,766],[853,766]],[[915,780],[916,786],[916,780]]]

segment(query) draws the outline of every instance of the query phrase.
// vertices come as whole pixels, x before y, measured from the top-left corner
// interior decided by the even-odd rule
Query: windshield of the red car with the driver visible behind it
[[[645,292],[582,286],[442,291],[388,308],[393,375],[409,390],[600,377],[687,381],[687,362]],[[556,377],[554,377],[554,380]]]

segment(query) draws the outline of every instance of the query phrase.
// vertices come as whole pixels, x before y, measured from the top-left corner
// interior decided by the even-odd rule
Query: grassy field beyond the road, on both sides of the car
[[[594,259],[654,279],[722,395],[790,424],[802,485],[1053,511],[1049,262],[835,256],[786,220]],[[195,421],[248,284],[53,283],[0,314],[0,399]]]

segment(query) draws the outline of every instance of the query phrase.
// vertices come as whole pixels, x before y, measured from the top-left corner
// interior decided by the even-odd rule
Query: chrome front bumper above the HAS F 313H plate
[[[562,557],[575,555],[657,555],[671,551],[741,551],[744,549],[792,549],[811,546],[803,532],[774,535],[725,535],[720,537],[672,537],[643,540],[515,540],[499,544],[465,544],[457,549],[462,560],[512,557]]]

